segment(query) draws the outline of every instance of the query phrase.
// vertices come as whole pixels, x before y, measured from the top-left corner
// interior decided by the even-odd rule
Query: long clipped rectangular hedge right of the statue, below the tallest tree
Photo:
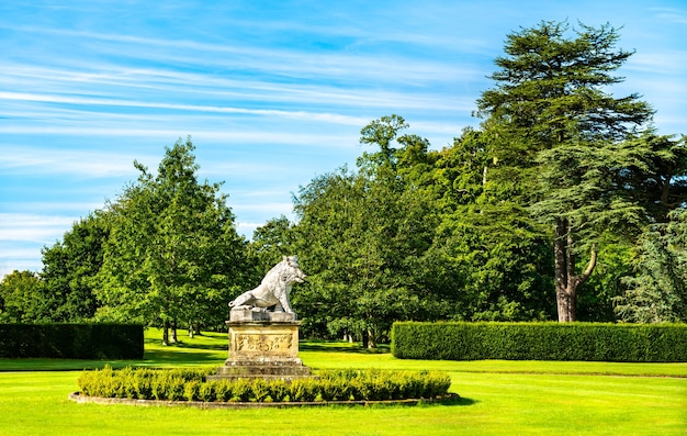
[[[687,325],[398,322],[392,353],[406,359],[687,361]]]

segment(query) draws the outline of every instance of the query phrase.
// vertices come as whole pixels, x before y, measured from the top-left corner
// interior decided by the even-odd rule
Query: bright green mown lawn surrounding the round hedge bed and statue
[[[314,369],[437,369],[460,401],[420,406],[198,410],[77,404],[82,368],[218,366],[226,334],[159,345],[142,361],[0,359],[0,435],[685,435],[687,364],[399,360],[345,343],[301,344]]]

